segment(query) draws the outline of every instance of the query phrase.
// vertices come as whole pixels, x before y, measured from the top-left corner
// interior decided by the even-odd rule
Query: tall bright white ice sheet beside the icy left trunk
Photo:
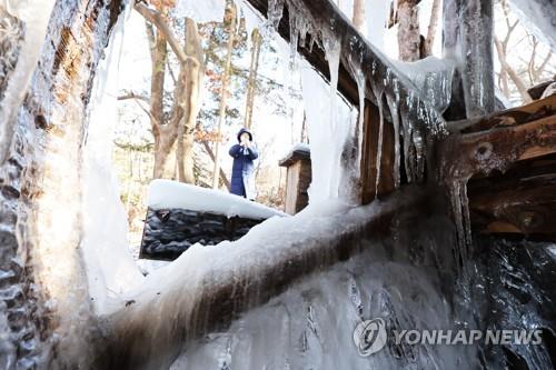
[[[128,10],[129,11],[129,10]],[[142,282],[127,241],[127,214],[112,169],[112,122],[117,121],[118,73],[125,16],[112,33],[95,79],[83,147],[83,239],[89,292],[98,313],[109,312],[120,294]],[[132,37],[132,34],[130,34]]]

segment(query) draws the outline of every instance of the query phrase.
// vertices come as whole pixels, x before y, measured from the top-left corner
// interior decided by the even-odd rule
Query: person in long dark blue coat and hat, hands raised
[[[237,138],[239,143],[230,148],[230,156],[234,158],[230,192],[254,200],[257,196],[254,160],[259,157],[259,153],[252,143],[252,134],[249,130],[239,130]]]

